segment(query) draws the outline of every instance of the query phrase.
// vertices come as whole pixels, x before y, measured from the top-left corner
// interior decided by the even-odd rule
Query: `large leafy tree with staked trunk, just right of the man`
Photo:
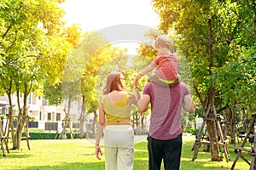
[[[222,111],[224,88],[219,87],[217,72],[241,58],[244,49],[255,42],[255,3],[251,1],[161,1],[154,0],[160,14],[160,30],[174,31],[177,48],[189,62],[195,95],[204,114],[214,117]],[[251,17],[251,18],[250,18]],[[254,26],[254,27],[253,27]],[[229,83],[226,79],[225,82]],[[224,83],[224,82],[222,82]],[[218,142],[214,123],[207,122],[211,143]],[[218,145],[211,145],[212,161],[220,161]]]

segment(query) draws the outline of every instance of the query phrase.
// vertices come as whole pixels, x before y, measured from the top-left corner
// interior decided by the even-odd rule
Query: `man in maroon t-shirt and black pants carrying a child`
[[[137,89],[137,83],[134,84]],[[151,105],[148,132],[148,169],[160,170],[161,161],[165,169],[179,169],[182,150],[181,109],[193,113],[195,102],[184,82],[165,87],[147,82],[138,101],[140,112]]]

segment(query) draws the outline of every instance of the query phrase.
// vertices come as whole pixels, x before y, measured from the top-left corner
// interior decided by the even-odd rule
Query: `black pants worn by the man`
[[[169,140],[153,139],[148,135],[148,169],[160,170],[162,160],[166,170],[179,169],[182,144],[182,134]]]

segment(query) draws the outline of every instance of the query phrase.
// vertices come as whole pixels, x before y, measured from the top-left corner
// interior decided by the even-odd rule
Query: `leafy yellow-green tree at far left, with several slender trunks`
[[[42,94],[44,80],[55,82],[69,53],[69,44],[60,36],[64,11],[58,1],[1,1],[1,86],[9,96],[12,120],[13,93],[18,98],[18,125],[13,133],[13,148],[20,149],[21,132],[27,118],[26,99],[31,92]],[[12,121],[10,121],[12,127]]]

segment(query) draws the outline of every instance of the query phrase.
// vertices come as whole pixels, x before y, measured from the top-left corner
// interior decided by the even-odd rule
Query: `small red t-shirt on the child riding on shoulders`
[[[160,54],[151,65],[157,67],[156,76],[160,79],[174,81],[177,79],[178,59],[175,54]]]

